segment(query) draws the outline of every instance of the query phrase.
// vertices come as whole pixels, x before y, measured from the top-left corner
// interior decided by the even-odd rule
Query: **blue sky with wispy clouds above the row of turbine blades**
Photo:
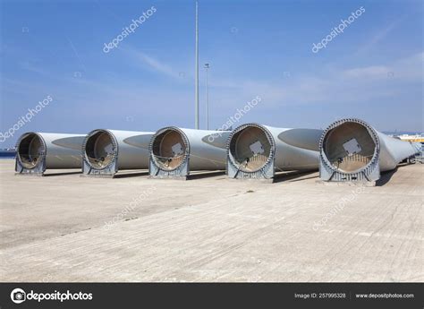
[[[193,1],[1,1],[1,132],[51,96],[28,131],[194,126]],[[103,51],[151,6],[146,21]],[[313,43],[360,7],[326,48]],[[200,127],[257,96],[239,124],[325,128],[360,117],[380,131],[423,129],[422,1],[199,1]]]

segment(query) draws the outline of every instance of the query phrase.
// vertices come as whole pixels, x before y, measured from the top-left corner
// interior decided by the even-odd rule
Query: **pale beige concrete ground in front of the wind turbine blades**
[[[424,280],[421,164],[375,187],[60,172],[0,160],[1,281]]]

